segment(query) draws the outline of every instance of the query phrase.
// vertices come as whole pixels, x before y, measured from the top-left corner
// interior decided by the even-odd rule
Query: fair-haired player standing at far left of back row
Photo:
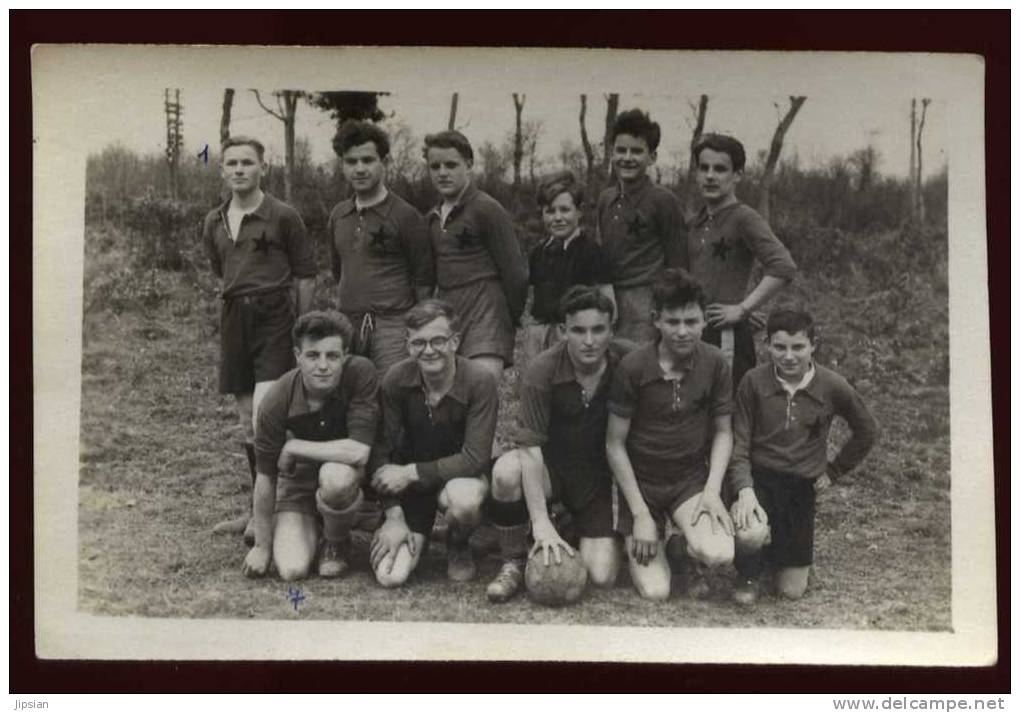
[[[219,392],[234,394],[237,402],[253,485],[252,441],[259,403],[272,383],[294,366],[295,306],[298,314],[311,308],[316,272],[301,216],[260,187],[267,169],[264,157],[265,149],[255,139],[235,136],[223,143],[220,167],[231,197],[209,211],[202,226],[212,271],[223,285]],[[248,515],[213,528],[242,530],[250,544]]]

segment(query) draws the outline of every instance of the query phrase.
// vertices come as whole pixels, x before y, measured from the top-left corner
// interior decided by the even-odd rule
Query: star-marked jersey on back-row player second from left
[[[329,258],[346,312],[398,314],[414,305],[414,288],[436,285],[425,221],[393,191],[358,209],[353,198],[329,214]]]

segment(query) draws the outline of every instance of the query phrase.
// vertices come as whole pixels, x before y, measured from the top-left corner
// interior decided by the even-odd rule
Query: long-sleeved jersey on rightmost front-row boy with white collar
[[[733,411],[733,456],[727,471],[733,492],[752,485],[755,467],[807,479],[823,475],[833,416],[843,417],[853,431],[832,461],[842,474],[857,467],[878,435],[874,417],[847,379],[815,364],[814,378],[790,396],[771,362],[748,371]]]

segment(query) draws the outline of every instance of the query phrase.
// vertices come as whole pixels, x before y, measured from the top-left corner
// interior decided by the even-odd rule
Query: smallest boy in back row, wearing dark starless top
[[[547,238],[528,256],[531,323],[524,330],[521,373],[531,359],[559,342],[560,298],[570,287],[597,286],[615,302],[609,263],[581,226],[584,187],[565,170],[543,180],[538,194]]]

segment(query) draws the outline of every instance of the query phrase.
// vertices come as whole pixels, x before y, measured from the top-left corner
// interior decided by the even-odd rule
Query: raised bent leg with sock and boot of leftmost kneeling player
[[[338,577],[347,571],[351,550],[351,525],[361,505],[361,468],[344,463],[319,466],[319,487],[315,506],[322,515],[324,543],[319,554],[318,573]]]

